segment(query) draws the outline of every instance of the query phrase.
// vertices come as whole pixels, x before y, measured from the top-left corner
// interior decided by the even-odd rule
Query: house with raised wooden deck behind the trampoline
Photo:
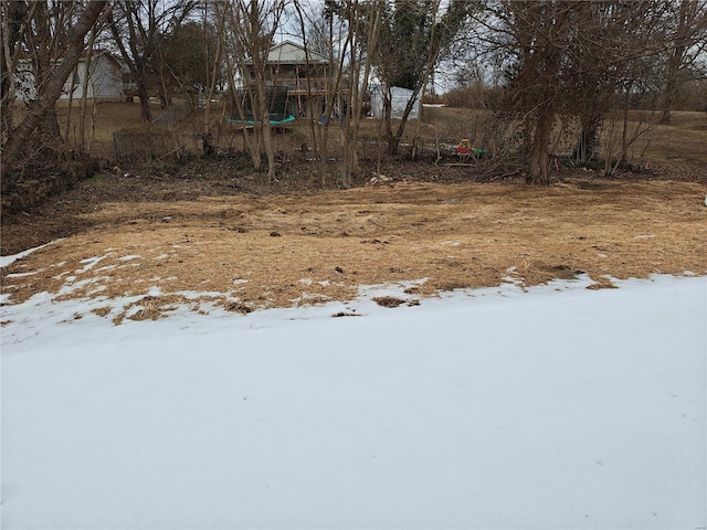
[[[300,44],[284,41],[267,52],[265,78],[271,113],[296,117],[319,116],[331,98],[340,105],[331,60]],[[253,61],[244,63],[243,85],[256,78]],[[243,88],[241,88],[243,91]]]

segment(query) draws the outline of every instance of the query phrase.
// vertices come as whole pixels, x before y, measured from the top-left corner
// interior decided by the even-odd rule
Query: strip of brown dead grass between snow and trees
[[[585,273],[601,288],[612,277],[707,274],[704,182],[579,172],[540,188],[386,172],[389,182],[350,190],[199,165],[103,173],[3,219],[3,255],[66,239],[2,268],[2,293],[10,304],[42,292],[139,297],[119,320],[159,318],[184,300],[240,314],[345,300],[360,285],[421,278],[420,297],[509,276],[536,285]]]

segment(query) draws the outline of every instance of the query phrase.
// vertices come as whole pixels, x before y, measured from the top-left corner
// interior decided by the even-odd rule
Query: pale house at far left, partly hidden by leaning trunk
[[[117,99],[124,97],[123,68],[110,53],[94,50],[88,61],[84,54],[73,75],[68,76],[61,99],[80,99],[84,80],[88,80],[86,97],[89,99]],[[21,59],[14,71],[14,97],[19,100],[36,99],[36,82],[31,59]]]

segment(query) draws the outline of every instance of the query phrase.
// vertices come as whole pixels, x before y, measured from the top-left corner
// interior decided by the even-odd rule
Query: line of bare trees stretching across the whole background
[[[340,127],[345,186],[359,171],[361,116],[372,82],[383,96],[383,156],[398,155],[416,102],[445,71],[455,78],[450,102],[523,124],[528,181],[544,183],[558,116],[580,123],[576,155],[589,160],[610,110],[650,102],[669,123],[680,95],[692,89],[699,99],[694,87],[707,78],[707,0],[18,0],[1,9],[3,178],[40,155],[85,151],[83,125],[77,146],[68,148],[61,137],[55,105],[82,54],[94,47],[120,57],[145,121],[152,119],[150,97],[163,107],[175,96],[201,97],[204,153],[214,150],[214,93],[228,94],[244,112],[234,81],[247,62],[252,78],[240,89],[255,119],[243,141],[254,167],[264,163],[271,178],[276,146],[267,119],[267,50],[287,35],[324,53],[337,96],[326,100],[321,123],[310,117],[308,142],[325,183],[329,127]],[[23,103],[20,119],[14,82],[22,62],[31,64],[36,97]],[[391,113],[394,86],[412,94],[401,119]],[[85,91],[82,99],[85,112]],[[337,113],[342,119],[333,125]],[[420,121],[414,127],[412,157]]]

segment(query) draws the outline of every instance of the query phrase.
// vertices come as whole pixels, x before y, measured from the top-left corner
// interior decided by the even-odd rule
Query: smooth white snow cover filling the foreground
[[[707,278],[587,284],[6,306],[2,528],[705,528]]]

